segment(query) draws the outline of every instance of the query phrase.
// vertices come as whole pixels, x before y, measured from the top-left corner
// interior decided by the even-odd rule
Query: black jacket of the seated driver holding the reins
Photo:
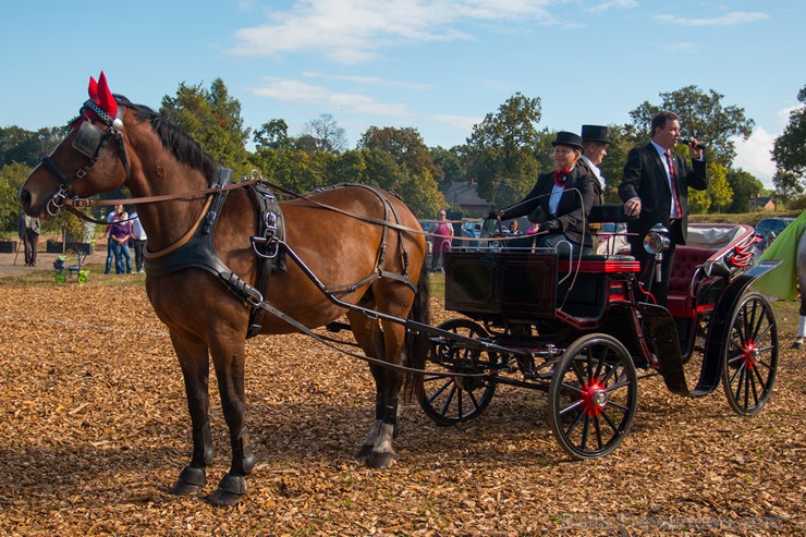
[[[526,194],[523,200],[503,210],[501,220],[536,212],[537,218],[533,221],[542,223],[547,220],[557,220],[562,227],[562,233],[569,240],[590,246],[593,244],[590,231],[585,229],[585,223],[590,207],[597,200],[595,182],[596,178],[589,175],[587,168],[577,163],[565,182],[565,188],[557,207],[557,215],[551,215],[549,197],[551,196],[551,190],[554,187],[554,172],[541,173],[537,176],[537,182],[532,192]]]

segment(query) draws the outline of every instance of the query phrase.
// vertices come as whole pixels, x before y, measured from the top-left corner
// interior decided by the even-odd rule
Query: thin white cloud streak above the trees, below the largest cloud
[[[254,88],[258,97],[269,97],[285,102],[319,105],[339,111],[363,112],[391,118],[408,118],[405,105],[381,102],[357,93],[340,93],[323,86],[307,84],[291,78],[265,78],[265,84]]]

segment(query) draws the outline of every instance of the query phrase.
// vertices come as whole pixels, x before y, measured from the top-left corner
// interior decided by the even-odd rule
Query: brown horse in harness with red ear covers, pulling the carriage
[[[64,199],[88,198],[125,185],[135,198],[149,198],[137,209],[148,234],[148,255],[159,257],[181,244],[205,218],[210,194],[198,192],[212,184],[217,168],[196,142],[164,118],[112,96],[102,73],[98,84],[90,78],[89,94],[65,139],[20,191],[23,209],[30,216],[52,213]],[[223,265],[255,286],[258,256],[249,237],[260,211],[247,188],[228,194],[217,215],[212,244]],[[154,196],[168,199],[151,200]],[[407,357],[408,365],[422,366],[426,337],[399,320],[428,322],[426,243],[403,202],[378,188],[346,185],[280,206],[285,225],[280,247],[288,248],[289,256],[285,271],[270,277],[266,303],[309,328],[346,313],[366,356],[398,365]],[[295,256],[300,263],[293,260]],[[328,298],[303,266],[328,288],[340,289],[340,301],[379,312],[380,320]],[[172,491],[195,495],[206,483],[205,468],[215,452],[208,415],[211,357],[230,430],[232,465],[209,501],[234,504],[245,493],[246,475],[255,465],[244,398],[248,301],[200,268],[147,273],[146,291],[170,330],[193,427],[193,456]],[[260,333],[297,331],[292,325],[267,314]],[[376,383],[375,422],[357,456],[370,467],[386,468],[394,461],[392,439],[405,375],[371,362],[370,369]]]

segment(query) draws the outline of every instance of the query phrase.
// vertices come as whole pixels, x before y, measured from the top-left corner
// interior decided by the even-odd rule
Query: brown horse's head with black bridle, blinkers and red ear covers
[[[129,178],[123,114],[107,77],[89,78],[89,100],[70,125],[68,136],[34,168],[20,190],[30,216],[53,216],[65,199],[89,197],[120,187]],[[111,143],[110,143],[111,142]]]

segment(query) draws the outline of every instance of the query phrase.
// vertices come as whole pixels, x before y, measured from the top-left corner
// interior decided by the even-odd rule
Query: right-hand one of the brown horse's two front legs
[[[228,338],[223,343],[211,345],[211,353],[224,420],[230,429],[232,464],[230,472],[218,484],[218,489],[210,496],[209,502],[225,507],[234,505],[246,493],[246,476],[255,466],[245,420],[243,339]]]

